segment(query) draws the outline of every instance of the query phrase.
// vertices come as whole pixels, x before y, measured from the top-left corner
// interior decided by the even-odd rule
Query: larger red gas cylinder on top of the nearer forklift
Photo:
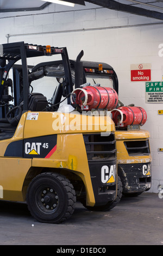
[[[72,94],[82,110],[91,110],[92,108],[111,110],[118,103],[116,91],[107,87],[86,86],[74,89]],[[72,97],[71,102],[74,103]]]

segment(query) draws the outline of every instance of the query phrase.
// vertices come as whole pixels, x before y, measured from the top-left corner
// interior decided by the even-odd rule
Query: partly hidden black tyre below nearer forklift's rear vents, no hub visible
[[[85,206],[85,208],[87,208],[88,210],[91,211],[109,211],[112,208],[114,208],[121,200],[122,197],[122,182],[120,177],[118,176],[117,178],[117,197],[113,202],[108,202],[105,205],[99,205],[99,206]]]

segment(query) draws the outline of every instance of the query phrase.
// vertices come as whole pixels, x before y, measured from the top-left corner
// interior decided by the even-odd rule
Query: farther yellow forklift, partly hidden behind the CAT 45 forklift
[[[81,61],[83,54],[84,52],[81,51],[75,61],[70,61],[71,69],[75,74],[76,88],[80,87],[82,83],[89,82],[90,84],[100,84],[102,87],[114,88],[118,94],[118,78],[115,70],[106,63]],[[152,184],[150,134],[147,130],[142,129],[142,125],[147,120],[145,110],[135,107],[133,104],[123,106],[123,103],[118,100],[115,110],[111,111],[111,115],[116,115],[115,119],[115,115],[112,118],[116,125],[117,170],[118,177],[122,182],[123,195],[135,197],[148,191]],[[124,109],[124,111],[119,110],[118,112],[117,109]],[[126,111],[130,111],[129,117],[132,117],[128,125]],[[138,114],[142,119],[136,123],[134,120]]]

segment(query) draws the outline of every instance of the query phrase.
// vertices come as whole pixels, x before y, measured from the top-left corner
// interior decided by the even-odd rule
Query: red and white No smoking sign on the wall
[[[131,64],[131,82],[151,81],[151,64]]]

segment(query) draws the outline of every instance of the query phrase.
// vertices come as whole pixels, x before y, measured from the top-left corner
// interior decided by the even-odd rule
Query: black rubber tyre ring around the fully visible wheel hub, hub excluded
[[[33,208],[33,205],[35,204],[35,196],[32,195],[34,191],[34,186],[36,182],[38,183],[39,180],[42,179],[51,179],[52,182],[55,181],[55,183],[58,183],[58,186],[62,190],[62,193],[64,193],[64,196],[66,198],[66,202],[63,206],[62,204],[62,214],[61,217],[55,217],[55,214],[53,218],[51,219],[45,219],[40,217],[40,211],[36,208]],[[53,172],[46,172],[46,173],[41,173],[37,175],[29,184],[28,190],[27,190],[27,205],[28,205],[28,210],[30,211],[30,214],[39,222],[45,222],[45,223],[61,223],[66,221],[68,218],[71,217],[71,215],[74,212],[76,204],[76,192],[73,189],[73,185],[71,184],[70,180],[68,180],[65,176],[59,174],[59,173],[53,173]],[[36,212],[36,209],[39,211],[39,216]]]

